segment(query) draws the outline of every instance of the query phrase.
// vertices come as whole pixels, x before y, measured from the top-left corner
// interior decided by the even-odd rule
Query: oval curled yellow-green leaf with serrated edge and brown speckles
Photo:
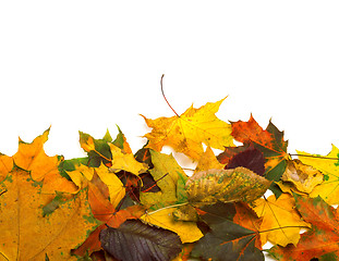
[[[253,200],[262,197],[270,182],[245,167],[197,172],[186,182],[191,203],[214,203]]]

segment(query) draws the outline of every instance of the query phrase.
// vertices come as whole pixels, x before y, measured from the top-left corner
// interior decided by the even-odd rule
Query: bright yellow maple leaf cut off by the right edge
[[[331,151],[322,158],[322,156],[310,154],[298,151],[298,154],[313,156],[299,157],[304,164],[311,165],[319,170],[324,174],[324,182],[316,186],[310,197],[320,196],[328,204],[339,203],[339,149],[332,145]],[[328,158],[328,159],[326,159]],[[337,160],[336,160],[337,159]]]

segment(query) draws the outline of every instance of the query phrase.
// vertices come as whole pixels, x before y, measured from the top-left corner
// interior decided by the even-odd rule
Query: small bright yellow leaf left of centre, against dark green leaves
[[[126,171],[138,175],[147,171],[147,164],[136,161],[132,152],[123,152],[113,144],[109,144],[109,147],[113,158],[110,166],[112,172]]]

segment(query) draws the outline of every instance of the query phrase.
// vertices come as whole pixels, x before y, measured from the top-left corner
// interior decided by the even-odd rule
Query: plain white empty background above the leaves
[[[125,134],[147,117],[229,96],[217,114],[283,129],[289,152],[339,146],[338,1],[1,1],[0,151],[51,125],[48,154],[83,157],[78,130]]]

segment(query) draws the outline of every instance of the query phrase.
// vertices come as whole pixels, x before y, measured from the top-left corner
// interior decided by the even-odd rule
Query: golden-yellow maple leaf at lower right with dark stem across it
[[[288,244],[298,244],[301,228],[310,225],[302,221],[294,209],[294,198],[289,194],[282,194],[278,199],[274,195],[267,199],[257,199],[254,211],[263,219],[261,224],[261,240],[265,245],[267,240],[274,245],[286,247]]]

